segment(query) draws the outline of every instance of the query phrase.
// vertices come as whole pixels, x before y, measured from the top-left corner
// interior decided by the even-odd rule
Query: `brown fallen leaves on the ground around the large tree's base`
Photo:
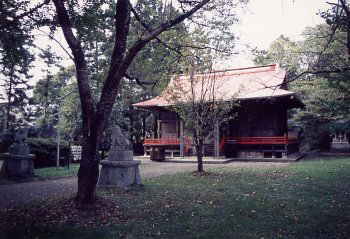
[[[10,230],[17,225],[31,228],[33,226],[57,227],[69,224],[77,227],[95,228],[111,223],[125,223],[128,220],[114,201],[104,198],[99,198],[94,207],[86,211],[77,209],[74,199],[63,199],[28,209],[2,210],[0,218],[2,219],[0,220],[0,230]]]

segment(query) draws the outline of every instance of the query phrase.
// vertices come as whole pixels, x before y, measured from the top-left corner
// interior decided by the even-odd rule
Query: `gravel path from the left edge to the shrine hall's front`
[[[204,165],[204,168],[266,168],[285,167],[287,165],[288,163],[232,162],[229,164],[206,164]],[[197,164],[195,163],[159,163],[150,160],[142,160],[140,171],[141,178],[147,179],[159,177],[165,174],[170,175],[178,172],[195,171],[196,167]],[[76,191],[76,177],[0,185],[0,209],[21,206],[50,198],[58,198],[62,196],[68,197],[75,194]]]

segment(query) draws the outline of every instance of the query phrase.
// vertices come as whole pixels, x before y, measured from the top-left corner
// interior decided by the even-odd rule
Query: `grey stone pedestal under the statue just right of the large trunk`
[[[102,187],[127,188],[141,184],[139,165],[141,161],[101,161],[102,169],[98,185]]]

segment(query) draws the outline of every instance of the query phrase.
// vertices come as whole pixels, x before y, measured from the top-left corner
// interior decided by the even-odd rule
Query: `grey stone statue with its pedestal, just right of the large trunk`
[[[106,160],[101,161],[102,169],[98,185],[102,187],[128,188],[141,184],[139,165],[133,160],[133,151],[129,140],[119,126],[112,130],[112,143]]]

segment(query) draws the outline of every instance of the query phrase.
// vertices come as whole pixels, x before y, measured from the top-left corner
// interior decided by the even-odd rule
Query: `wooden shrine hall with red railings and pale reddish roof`
[[[298,151],[298,139],[288,132],[287,112],[303,107],[303,103],[296,93],[287,90],[285,70],[273,64],[194,75],[203,76],[215,80],[216,92],[224,97],[223,100],[239,102],[237,117],[217,125],[206,138],[204,155],[284,159]],[[168,96],[179,83],[189,84],[189,77],[176,75],[159,96],[134,104],[152,111],[155,116],[156,132],[152,138],[144,140],[144,148],[145,152],[162,152],[160,160],[166,152],[171,156],[195,153],[191,132],[184,127],[176,112],[171,111],[175,103]]]

